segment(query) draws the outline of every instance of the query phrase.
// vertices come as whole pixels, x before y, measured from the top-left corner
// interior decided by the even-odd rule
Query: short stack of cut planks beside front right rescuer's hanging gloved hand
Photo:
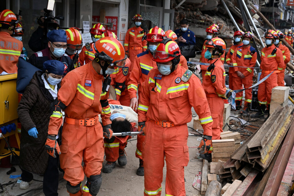
[[[230,158],[231,154],[235,151],[235,140],[212,140],[212,161],[218,162],[218,160],[226,161]]]

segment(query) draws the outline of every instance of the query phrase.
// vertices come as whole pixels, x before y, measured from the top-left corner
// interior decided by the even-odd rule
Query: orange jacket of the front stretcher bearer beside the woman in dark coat
[[[85,120],[101,114],[103,126],[111,124],[109,93],[102,92],[103,81],[104,77],[94,70],[92,62],[66,74],[57,93],[58,100],[66,106],[63,110],[66,118]],[[48,134],[57,135],[62,122],[62,113],[55,109],[50,116]]]

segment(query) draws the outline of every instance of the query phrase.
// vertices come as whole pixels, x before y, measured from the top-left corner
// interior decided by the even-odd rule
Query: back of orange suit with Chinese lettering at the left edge
[[[22,48],[21,41],[11,37],[7,32],[0,32],[0,73],[17,73],[16,63]]]

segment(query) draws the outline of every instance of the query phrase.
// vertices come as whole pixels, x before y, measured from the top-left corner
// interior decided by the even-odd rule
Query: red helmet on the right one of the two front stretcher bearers
[[[158,44],[152,59],[158,63],[166,63],[180,56],[181,51],[178,44],[172,39],[165,39]]]

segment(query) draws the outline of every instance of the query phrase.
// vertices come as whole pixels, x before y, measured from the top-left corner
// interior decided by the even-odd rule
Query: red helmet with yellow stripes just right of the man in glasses
[[[80,31],[71,27],[65,30],[66,40],[67,40],[67,48],[70,50],[81,50],[83,48],[82,44],[82,36]]]

